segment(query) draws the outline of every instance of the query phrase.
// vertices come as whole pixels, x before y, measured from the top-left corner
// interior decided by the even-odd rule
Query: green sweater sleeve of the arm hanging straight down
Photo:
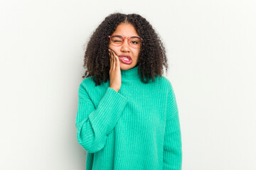
[[[182,163],[181,128],[174,90],[169,89],[164,133],[164,169],[180,170]]]

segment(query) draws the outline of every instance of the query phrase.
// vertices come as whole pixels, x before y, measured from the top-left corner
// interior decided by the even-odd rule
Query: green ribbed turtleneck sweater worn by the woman
[[[181,169],[181,128],[171,82],[144,84],[138,66],[122,70],[119,91],[110,81],[84,79],[75,121],[78,142],[87,151],[86,170]]]

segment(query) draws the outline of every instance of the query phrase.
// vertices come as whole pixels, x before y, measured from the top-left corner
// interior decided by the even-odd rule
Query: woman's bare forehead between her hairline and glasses
[[[135,30],[134,26],[131,23],[120,23],[114,33],[112,35],[122,35],[124,37],[129,37],[132,35],[138,35],[137,31]]]

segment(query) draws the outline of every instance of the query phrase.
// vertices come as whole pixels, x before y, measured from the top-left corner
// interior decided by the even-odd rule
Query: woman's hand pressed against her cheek
[[[110,87],[115,91],[119,91],[121,88],[121,70],[119,58],[115,52],[109,49],[110,54]]]

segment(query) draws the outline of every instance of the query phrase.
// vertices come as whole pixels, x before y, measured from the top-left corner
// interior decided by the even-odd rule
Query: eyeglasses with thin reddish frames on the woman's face
[[[130,47],[138,48],[142,45],[142,38],[138,36],[123,37],[122,35],[109,35],[112,45],[121,46],[124,44],[124,39],[127,38]]]

